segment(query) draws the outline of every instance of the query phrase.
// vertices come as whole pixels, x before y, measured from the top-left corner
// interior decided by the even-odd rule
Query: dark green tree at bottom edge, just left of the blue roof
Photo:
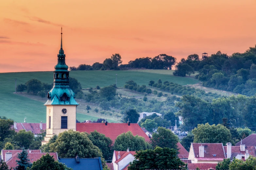
[[[54,160],[49,153],[43,155],[39,160],[33,162],[32,166],[27,170],[72,170],[63,163]]]

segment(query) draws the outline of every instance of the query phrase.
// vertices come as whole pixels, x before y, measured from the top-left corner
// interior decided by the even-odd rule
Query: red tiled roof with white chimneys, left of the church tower
[[[43,123],[43,130],[46,129],[46,123]],[[23,127],[24,126],[24,127]],[[41,134],[40,123],[16,123],[16,132],[20,130],[31,131],[33,134]],[[12,125],[13,128],[13,125]],[[24,129],[25,128],[25,129]]]

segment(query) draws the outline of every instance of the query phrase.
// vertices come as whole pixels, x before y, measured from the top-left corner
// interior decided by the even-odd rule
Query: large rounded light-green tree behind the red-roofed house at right
[[[231,142],[231,133],[225,126],[209,123],[198,124],[192,130],[195,135],[194,143],[228,143]]]

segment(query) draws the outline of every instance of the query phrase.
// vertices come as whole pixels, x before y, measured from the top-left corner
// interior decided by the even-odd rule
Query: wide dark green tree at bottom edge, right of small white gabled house
[[[177,156],[177,150],[156,147],[136,152],[135,159],[128,166],[128,170],[145,169],[186,169]]]

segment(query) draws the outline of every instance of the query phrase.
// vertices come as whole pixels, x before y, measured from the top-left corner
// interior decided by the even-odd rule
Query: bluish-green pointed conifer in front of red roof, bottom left
[[[22,152],[18,153],[17,158],[19,160],[16,161],[18,166],[16,166],[15,170],[26,170],[32,166],[32,163],[30,163],[30,160],[28,159],[27,150],[25,150],[25,148],[22,148]]]

